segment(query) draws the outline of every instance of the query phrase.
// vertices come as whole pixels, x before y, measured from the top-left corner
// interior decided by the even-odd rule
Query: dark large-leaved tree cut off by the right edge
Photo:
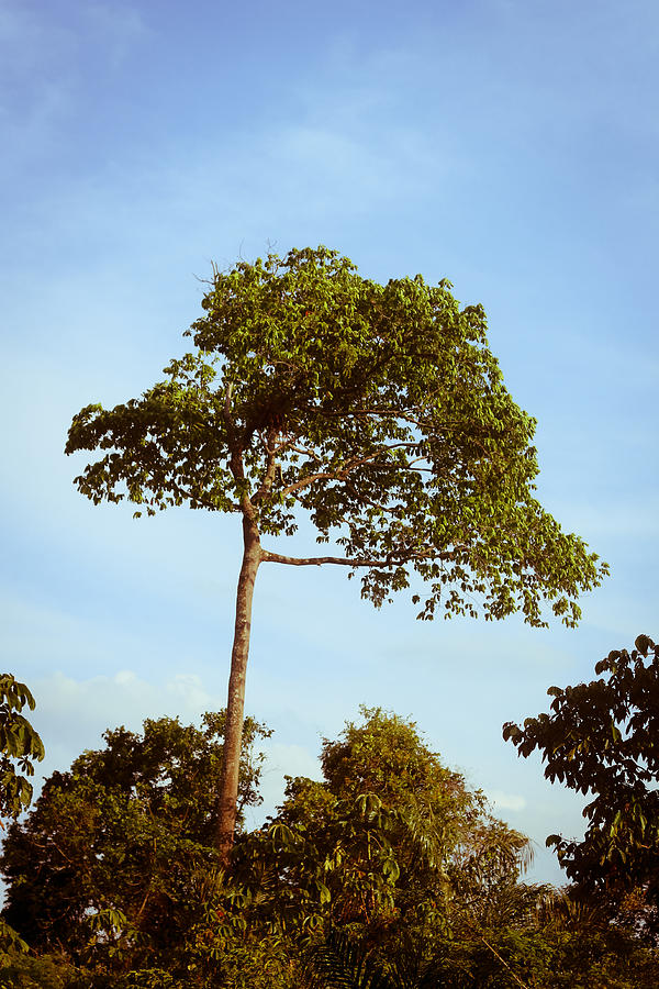
[[[599,679],[551,687],[551,713],[504,725],[522,756],[536,749],[545,776],[590,793],[583,841],[550,835],[560,864],[584,891],[638,887],[659,905],[659,646],[639,635],[636,648],[614,649],[595,666]]]

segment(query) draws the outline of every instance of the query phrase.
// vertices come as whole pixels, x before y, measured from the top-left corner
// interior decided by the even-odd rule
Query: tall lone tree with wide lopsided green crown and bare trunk
[[[217,799],[227,860],[260,564],[359,571],[376,607],[416,571],[421,619],[476,615],[480,599],[485,619],[522,611],[532,625],[546,624],[545,601],[574,625],[579,593],[606,567],[534,498],[535,421],[503,385],[482,307],[460,309],[448,281],[379,285],[334,251],[305,248],[215,270],[202,305],[188,331],[197,351],[141,399],[82,409],[66,452],[101,452],[76,478],[96,503],[241,516]],[[291,535],[301,509],[335,555],[261,544]]]

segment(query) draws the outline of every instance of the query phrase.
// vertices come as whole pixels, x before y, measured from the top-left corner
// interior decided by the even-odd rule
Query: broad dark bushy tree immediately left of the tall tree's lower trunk
[[[0,859],[4,916],[32,947],[108,956],[112,968],[122,953],[137,964],[185,940],[193,875],[215,863],[223,730],[224,713],[201,729],[147,720],[142,734],[105,732],[103,749],[53,774]],[[246,720],[241,809],[260,799],[253,746],[268,734]]]

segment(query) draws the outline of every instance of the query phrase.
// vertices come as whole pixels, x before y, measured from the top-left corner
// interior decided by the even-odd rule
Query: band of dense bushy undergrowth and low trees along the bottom
[[[325,740],[323,781],[287,778],[255,831],[247,720],[230,869],[213,844],[224,713],[108,731],[7,832],[0,986],[424,989],[659,985],[643,881],[525,881],[528,840],[429,751],[362,709]]]

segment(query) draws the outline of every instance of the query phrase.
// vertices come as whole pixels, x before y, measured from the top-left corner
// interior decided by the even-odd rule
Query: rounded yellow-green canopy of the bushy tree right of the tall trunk
[[[382,956],[413,929],[428,941],[481,930],[488,896],[517,882],[527,838],[489,813],[413,722],[361,714],[324,741],[324,780],[289,779],[276,818],[239,842],[237,875],[248,882],[268,864],[277,916],[298,910],[325,936],[378,932]]]

